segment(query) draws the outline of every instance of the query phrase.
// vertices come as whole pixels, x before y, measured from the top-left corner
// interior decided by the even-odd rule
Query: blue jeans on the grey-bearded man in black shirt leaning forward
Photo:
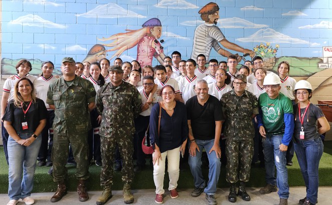
[[[203,148],[206,150],[207,157],[209,159],[209,181],[207,186],[204,189],[204,192],[207,194],[214,194],[217,190],[217,183],[220,175],[220,159],[217,158],[216,153],[212,151],[209,154],[210,149],[212,148],[214,139],[211,140],[199,140],[196,139],[196,144],[199,147],[200,151],[196,149],[196,156],[189,155],[189,166],[191,174],[194,176],[195,187],[205,187],[205,180],[202,174],[202,152]]]

